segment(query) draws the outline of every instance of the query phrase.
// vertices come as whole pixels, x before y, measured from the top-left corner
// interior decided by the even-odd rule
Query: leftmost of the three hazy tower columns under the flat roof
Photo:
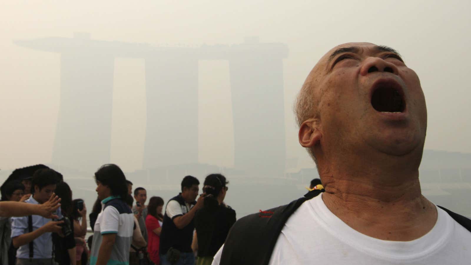
[[[94,171],[110,162],[114,56],[71,48],[61,54],[60,71],[52,163]]]

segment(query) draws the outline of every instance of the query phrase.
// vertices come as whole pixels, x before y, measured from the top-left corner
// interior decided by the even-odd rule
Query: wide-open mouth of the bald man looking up
[[[398,87],[391,83],[380,83],[371,97],[371,105],[379,112],[401,113],[406,109],[406,101]]]

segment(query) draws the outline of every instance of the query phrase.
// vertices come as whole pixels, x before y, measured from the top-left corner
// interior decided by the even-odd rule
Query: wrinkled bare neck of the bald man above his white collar
[[[325,206],[358,232],[408,241],[429,232],[437,220],[436,207],[422,196],[418,168],[391,170],[365,162],[322,169]]]

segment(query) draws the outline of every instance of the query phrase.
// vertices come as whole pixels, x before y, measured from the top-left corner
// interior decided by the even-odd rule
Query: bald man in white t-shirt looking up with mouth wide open
[[[469,264],[470,220],[421,193],[427,109],[396,50],[334,47],[302,86],[296,118],[325,192],[241,218],[213,265]]]

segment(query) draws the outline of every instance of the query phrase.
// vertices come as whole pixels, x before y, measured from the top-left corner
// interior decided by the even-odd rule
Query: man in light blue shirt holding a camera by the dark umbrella
[[[47,202],[60,181],[61,175],[52,169],[37,170],[32,177],[33,195],[25,202],[30,204]],[[57,209],[57,217],[62,218],[60,208]],[[18,248],[16,251],[16,264],[52,264],[53,244],[51,234],[62,234],[61,224],[64,224],[64,221],[53,221],[40,215],[13,217],[11,238],[13,246]]]

